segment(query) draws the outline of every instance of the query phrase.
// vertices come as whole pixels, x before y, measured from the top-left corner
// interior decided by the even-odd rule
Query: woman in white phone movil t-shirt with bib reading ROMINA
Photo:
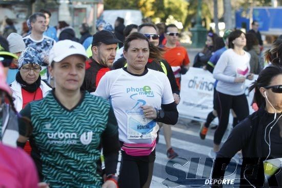
[[[164,73],[148,69],[149,41],[134,32],[124,43],[127,67],[112,70],[94,93],[109,99],[118,123],[122,146],[120,187],[149,187],[155,160],[156,132],[162,122],[178,119],[171,86]]]

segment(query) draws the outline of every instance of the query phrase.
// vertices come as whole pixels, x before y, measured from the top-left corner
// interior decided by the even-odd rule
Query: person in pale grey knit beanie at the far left
[[[23,37],[17,33],[11,33],[7,37],[7,40],[9,42],[10,53],[13,53],[17,57],[19,57],[26,48],[26,44],[23,40]],[[12,63],[9,66],[8,75],[7,75],[8,84],[12,83],[16,78],[16,74],[18,72],[17,59],[18,58],[13,58]]]

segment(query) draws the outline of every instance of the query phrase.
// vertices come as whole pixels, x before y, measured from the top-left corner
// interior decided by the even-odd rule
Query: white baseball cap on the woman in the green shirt
[[[49,65],[53,61],[59,62],[71,55],[82,55],[87,57],[84,46],[78,42],[72,40],[60,40],[56,42],[49,53]]]

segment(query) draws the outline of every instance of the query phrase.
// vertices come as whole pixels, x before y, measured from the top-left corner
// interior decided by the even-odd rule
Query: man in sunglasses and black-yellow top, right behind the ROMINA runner
[[[144,34],[149,39],[150,44],[153,46],[158,46],[159,43],[159,36],[156,30],[156,26],[152,23],[143,23],[138,27],[138,32]],[[167,75],[173,93],[174,102],[178,104],[180,102],[179,88],[176,84],[175,77],[169,63],[163,58],[160,60],[149,58],[147,67],[153,70],[158,70],[159,72],[163,72]],[[178,154],[171,147],[171,125],[159,123],[159,127],[161,126],[164,127],[164,136],[167,145],[167,157],[169,159],[173,159],[177,157]]]

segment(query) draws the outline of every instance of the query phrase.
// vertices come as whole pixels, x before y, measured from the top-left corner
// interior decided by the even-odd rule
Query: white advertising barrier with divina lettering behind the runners
[[[258,75],[254,75],[254,80]],[[249,93],[249,86],[254,80],[246,80],[245,93],[249,103],[250,114],[253,91]],[[208,70],[190,67],[189,71],[181,76],[180,103],[177,106],[180,117],[205,122],[209,112],[213,110],[213,86],[215,79]],[[233,118],[230,115],[229,123]],[[218,123],[215,119],[214,123]]]

